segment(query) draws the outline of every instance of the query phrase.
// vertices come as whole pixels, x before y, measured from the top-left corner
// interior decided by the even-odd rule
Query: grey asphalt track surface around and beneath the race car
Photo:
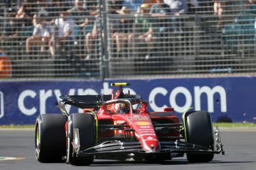
[[[31,130],[0,129],[1,170],[55,170],[55,169],[109,169],[109,170],[160,170],[160,169],[255,169],[256,129],[221,129],[225,155],[215,155],[209,163],[189,164],[185,157],[161,163],[145,163],[118,160],[95,160],[91,166],[71,166],[66,163],[37,162],[34,154],[34,132]],[[18,157],[19,160],[3,160],[3,157]]]

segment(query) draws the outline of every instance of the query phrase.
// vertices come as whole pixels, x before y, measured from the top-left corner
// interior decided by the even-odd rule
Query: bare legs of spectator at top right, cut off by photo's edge
[[[218,19],[219,19],[218,25],[217,25],[218,28],[220,28],[222,25],[225,5],[226,5],[225,0],[214,0],[213,10],[214,10],[214,15],[218,16]]]

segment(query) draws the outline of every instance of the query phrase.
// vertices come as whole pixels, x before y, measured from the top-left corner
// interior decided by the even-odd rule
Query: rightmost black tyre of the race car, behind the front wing
[[[186,141],[214,150],[211,115],[205,111],[191,111],[184,117]],[[209,162],[214,153],[187,153],[188,162]]]

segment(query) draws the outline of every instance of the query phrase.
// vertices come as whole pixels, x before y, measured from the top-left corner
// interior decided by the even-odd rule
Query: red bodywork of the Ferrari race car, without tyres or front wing
[[[125,97],[131,96],[129,93]],[[141,147],[145,152],[157,152],[161,149],[159,138],[164,136],[172,136],[172,138],[163,138],[162,141],[175,141],[179,139],[180,132],[175,129],[166,129],[165,131],[156,132],[154,123],[161,124],[177,124],[179,129],[179,118],[173,114],[173,108],[164,108],[161,112],[149,113],[147,110],[148,103],[145,101],[138,101],[140,106],[136,109],[131,108],[129,113],[116,113],[115,104],[122,100],[124,93],[122,88],[118,89],[115,95],[112,94],[112,99],[100,106],[96,111],[97,122],[100,125],[124,125],[124,130],[100,130],[98,131],[98,143],[109,139],[118,139],[120,141],[140,141]],[[124,100],[125,100],[124,97]],[[84,114],[88,114],[88,110],[92,108],[84,108]],[[175,126],[174,126],[175,127]],[[66,132],[68,131],[68,124],[65,125]],[[131,130],[132,129],[132,130]],[[67,133],[66,133],[67,134]]]

